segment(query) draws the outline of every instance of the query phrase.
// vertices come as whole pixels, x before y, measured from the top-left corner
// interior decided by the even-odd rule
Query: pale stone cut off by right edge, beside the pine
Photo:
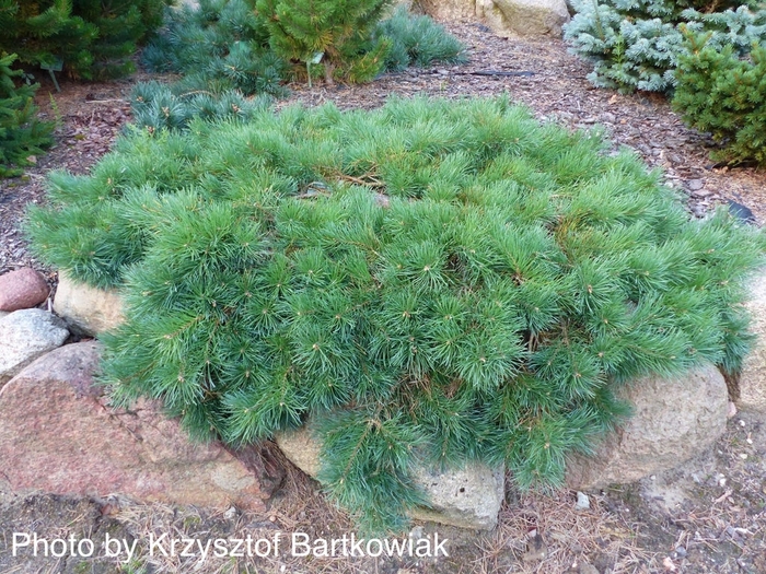
[[[750,300],[745,304],[751,313],[751,332],[757,340],[742,366],[736,405],[741,409],[766,413],[766,270],[751,280]]]

